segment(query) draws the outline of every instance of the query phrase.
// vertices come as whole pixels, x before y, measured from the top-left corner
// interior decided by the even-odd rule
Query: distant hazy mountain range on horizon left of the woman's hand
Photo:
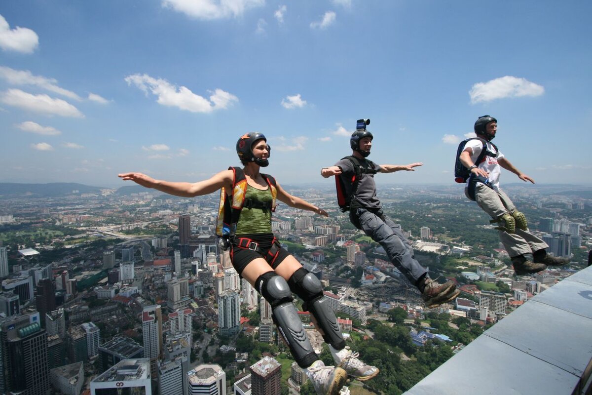
[[[49,198],[64,197],[67,195],[100,194],[101,190],[111,189],[103,187],[91,187],[90,185],[76,182],[50,182],[48,184],[20,184],[17,182],[0,182],[0,199],[6,198]],[[117,195],[129,195],[148,190],[140,185],[126,185],[115,191]],[[162,192],[155,191],[157,194]]]

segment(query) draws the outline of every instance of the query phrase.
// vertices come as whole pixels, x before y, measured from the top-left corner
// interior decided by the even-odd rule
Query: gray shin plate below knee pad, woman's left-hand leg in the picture
[[[274,307],[272,318],[298,366],[305,369],[318,359],[304,332],[302,321],[292,303],[284,303]]]

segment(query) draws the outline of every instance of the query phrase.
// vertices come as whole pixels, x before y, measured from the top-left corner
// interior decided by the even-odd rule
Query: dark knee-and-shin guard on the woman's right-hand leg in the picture
[[[345,339],[339,329],[335,312],[329,306],[329,300],[324,298],[323,285],[318,278],[307,269],[300,268],[292,274],[288,284],[292,292],[304,300],[303,309],[313,314],[319,329],[323,332],[324,341],[337,350],[343,349]]]

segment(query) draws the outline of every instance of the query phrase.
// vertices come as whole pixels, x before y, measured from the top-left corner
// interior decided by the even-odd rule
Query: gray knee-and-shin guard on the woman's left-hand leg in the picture
[[[271,304],[272,319],[288,344],[290,352],[301,368],[307,368],[318,359],[308,340],[288,283],[275,272],[266,272],[255,282],[259,293]]]

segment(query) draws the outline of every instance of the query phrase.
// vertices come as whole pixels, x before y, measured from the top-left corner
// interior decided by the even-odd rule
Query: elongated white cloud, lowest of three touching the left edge
[[[4,104],[20,107],[24,110],[35,111],[47,115],[62,117],[84,118],[84,115],[67,101],[54,99],[48,95],[32,95],[20,89],[8,89],[0,94],[0,101]]]

